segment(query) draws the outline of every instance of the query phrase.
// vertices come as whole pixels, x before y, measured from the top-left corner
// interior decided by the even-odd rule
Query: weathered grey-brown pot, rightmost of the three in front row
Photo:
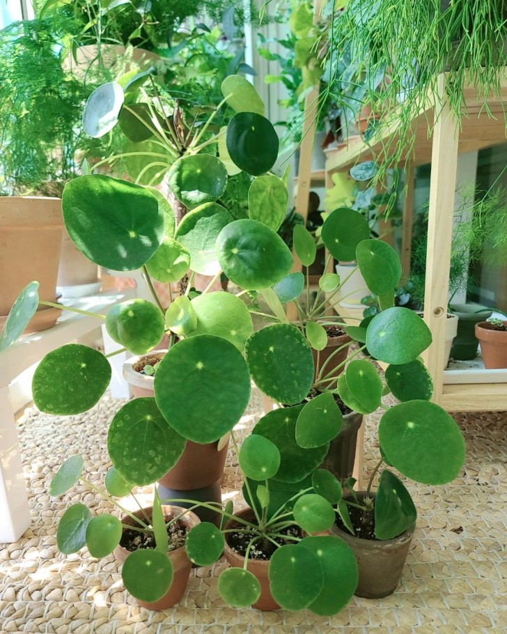
[[[356,495],[360,500],[366,497],[366,493],[362,492]],[[369,497],[375,497],[375,493],[370,493]],[[352,497],[345,496],[345,500],[352,501]],[[414,528],[394,539],[382,541],[361,539],[341,530],[336,524],[331,526],[329,532],[346,541],[357,559],[359,582],[354,592],[356,596],[382,598],[394,592],[407,559]]]

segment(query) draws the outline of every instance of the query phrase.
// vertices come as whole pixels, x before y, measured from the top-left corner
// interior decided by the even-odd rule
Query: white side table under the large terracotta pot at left
[[[113,304],[135,295],[136,291],[132,289],[121,293],[106,292],[93,297],[61,301],[81,310],[107,314]],[[101,321],[94,317],[63,311],[54,327],[22,337],[0,353],[0,543],[17,541],[30,525],[28,497],[14,412],[10,403],[9,383],[51,350],[95,330],[101,325]],[[107,346],[109,348],[107,352],[120,347],[111,342]],[[123,361],[123,359],[111,357],[114,378],[118,373],[121,376],[121,366],[118,371],[120,360]],[[115,383],[114,378],[111,380],[111,385]]]

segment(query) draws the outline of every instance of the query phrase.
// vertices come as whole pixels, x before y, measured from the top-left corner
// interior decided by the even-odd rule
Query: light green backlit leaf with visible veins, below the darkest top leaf
[[[248,191],[248,215],[278,231],[286,217],[289,194],[278,176],[258,176]]]

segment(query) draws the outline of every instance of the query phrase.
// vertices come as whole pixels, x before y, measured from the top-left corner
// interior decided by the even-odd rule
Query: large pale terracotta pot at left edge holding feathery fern
[[[0,196],[0,315],[33,280],[40,299],[54,302],[62,232],[60,199]]]

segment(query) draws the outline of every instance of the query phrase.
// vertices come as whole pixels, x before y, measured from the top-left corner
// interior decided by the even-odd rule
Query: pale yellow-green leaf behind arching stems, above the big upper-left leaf
[[[139,185],[159,185],[174,162],[173,155],[159,141],[150,139],[140,143],[125,141],[122,153],[128,176]]]

